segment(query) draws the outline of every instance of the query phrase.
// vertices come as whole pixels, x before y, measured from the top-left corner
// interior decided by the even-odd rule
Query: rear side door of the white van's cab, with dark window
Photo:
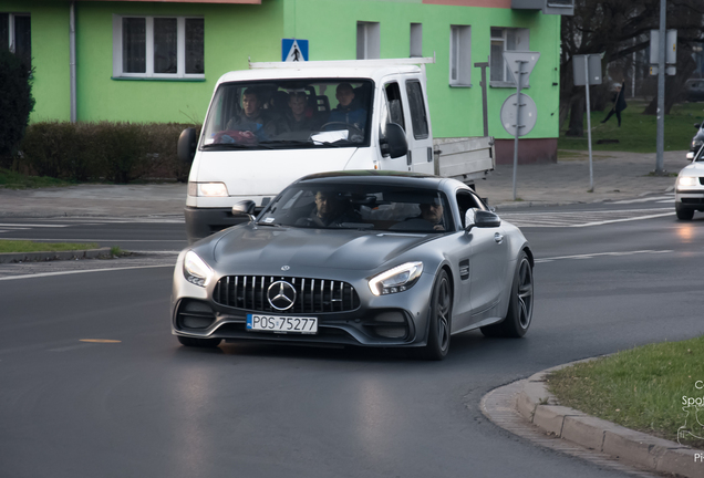
[[[433,135],[427,114],[427,102],[420,79],[406,80],[408,128],[408,155],[412,169],[416,173],[434,174]]]

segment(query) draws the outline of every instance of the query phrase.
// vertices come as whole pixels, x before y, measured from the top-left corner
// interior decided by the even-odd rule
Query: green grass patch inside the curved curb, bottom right
[[[704,447],[704,336],[561,368],[548,387],[560,405],[673,441],[686,429],[680,441]]]

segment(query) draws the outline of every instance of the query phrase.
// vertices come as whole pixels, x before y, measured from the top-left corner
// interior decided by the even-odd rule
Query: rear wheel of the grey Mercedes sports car
[[[532,322],[532,267],[525,251],[518,257],[508,311],[503,322],[479,330],[487,337],[521,337]]]

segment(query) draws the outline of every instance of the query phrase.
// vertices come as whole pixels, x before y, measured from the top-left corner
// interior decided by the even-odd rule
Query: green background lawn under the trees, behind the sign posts
[[[593,150],[655,153],[656,116],[643,115],[648,102],[628,98],[627,101],[629,106],[621,113],[621,127],[619,127],[615,116],[612,116],[604,124],[601,123],[607,117],[608,108],[611,107],[612,103],[603,112],[591,112],[591,147]],[[696,133],[694,124],[702,121],[704,121],[704,103],[679,103],[672,106],[670,114],[665,115],[665,150],[690,149],[692,136]],[[618,139],[619,143],[599,144],[600,139]],[[588,150],[587,116],[584,116],[584,137],[565,136],[565,131],[561,131],[558,148]]]

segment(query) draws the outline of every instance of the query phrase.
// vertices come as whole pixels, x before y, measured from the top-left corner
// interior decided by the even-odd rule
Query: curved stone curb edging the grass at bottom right
[[[591,360],[591,358],[590,358]],[[528,422],[548,434],[652,471],[700,478],[704,451],[622,427],[558,405],[546,386],[546,376],[560,365],[530,376],[518,393],[516,407]],[[697,461],[695,461],[698,458]]]

